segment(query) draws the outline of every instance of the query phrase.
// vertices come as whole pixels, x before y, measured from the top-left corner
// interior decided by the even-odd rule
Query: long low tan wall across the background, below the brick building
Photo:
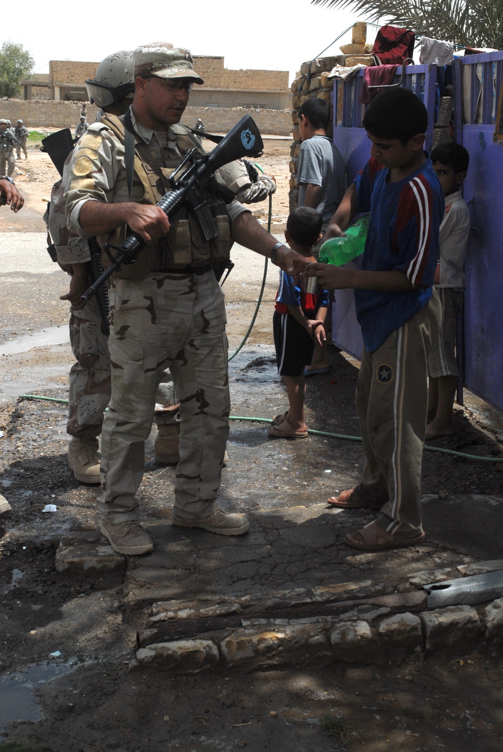
[[[95,118],[97,108],[87,105],[87,120]],[[262,133],[273,135],[290,135],[292,119],[289,110],[244,110],[211,109],[188,107],[182,123],[194,127],[198,117],[205,123],[208,131],[225,133],[245,114],[250,114]],[[8,99],[0,102],[0,117],[8,118],[13,123],[23,120],[28,128],[75,128],[80,117],[80,105],[71,102],[24,102],[21,99]]]

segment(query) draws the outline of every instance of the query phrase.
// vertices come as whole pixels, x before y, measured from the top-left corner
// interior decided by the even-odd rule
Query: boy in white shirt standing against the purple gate
[[[431,154],[445,197],[440,226],[440,259],[435,287],[442,304],[438,342],[428,359],[428,425],[426,438],[454,432],[453,404],[458,383],[456,364],[456,317],[462,311],[465,290],[465,258],[468,250],[470,214],[461,186],[468,171],[469,155],[461,144],[441,144]]]

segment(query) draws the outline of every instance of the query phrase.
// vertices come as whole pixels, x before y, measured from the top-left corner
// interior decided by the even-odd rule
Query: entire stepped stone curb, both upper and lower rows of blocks
[[[442,579],[483,574],[503,569],[503,561],[477,562],[456,569],[417,572],[406,578],[408,587],[421,587]],[[408,579],[408,582],[407,582]],[[206,596],[198,601],[158,602],[152,607],[149,628],[138,633],[146,642],[136,652],[132,669],[156,666],[175,672],[198,672],[210,666],[278,666],[320,661],[324,663],[386,663],[397,653],[435,650],[472,650],[480,643],[503,644],[503,598],[477,607],[448,606],[427,610],[420,593],[380,595],[387,588],[371,581],[343,583],[308,590],[285,590],[258,596]],[[414,595],[416,601],[414,601]],[[372,597],[373,596],[373,597]],[[366,602],[365,602],[366,600]],[[308,618],[256,618],[258,608],[318,605],[332,602],[347,608],[344,614]],[[413,605],[414,611],[410,610]],[[250,609],[250,617],[246,611]],[[393,613],[394,611],[394,613]],[[159,624],[172,626],[187,620],[214,617],[225,623],[229,614],[241,617],[238,628],[218,629],[191,638],[154,641]],[[140,644],[140,643],[138,643]]]

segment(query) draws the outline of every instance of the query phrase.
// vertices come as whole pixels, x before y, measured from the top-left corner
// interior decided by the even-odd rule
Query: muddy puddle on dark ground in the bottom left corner
[[[74,666],[68,663],[43,663],[26,666],[20,671],[0,678],[0,739],[13,720],[41,720],[41,709],[35,690],[48,681],[69,674]]]

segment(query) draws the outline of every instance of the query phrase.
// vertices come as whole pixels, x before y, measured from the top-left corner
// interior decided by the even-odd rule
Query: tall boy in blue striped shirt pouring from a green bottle
[[[365,450],[362,480],[329,504],[379,508],[376,520],[344,542],[362,550],[424,540],[421,462],[426,432],[427,360],[438,338],[441,306],[433,290],[444,196],[423,151],[428,115],[407,89],[371,102],[363,126],[371,159],[350,186],[327,229],[344,234],[370,211],[362,268],[311,264],[306,273],[331,290],[355,290],[364,350],[356,408]]]

